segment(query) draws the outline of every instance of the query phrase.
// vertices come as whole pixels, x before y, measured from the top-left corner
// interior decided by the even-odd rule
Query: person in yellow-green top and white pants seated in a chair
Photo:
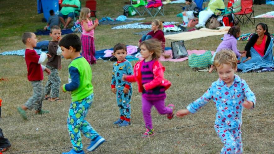
[[[225,9],[223,0],[210,0],[207,6],[207,10],[199,12],[199,24],[195,27],[205,27],[207,20],[215,13],[220,14],[220,11],[215,12],[215,9]]]

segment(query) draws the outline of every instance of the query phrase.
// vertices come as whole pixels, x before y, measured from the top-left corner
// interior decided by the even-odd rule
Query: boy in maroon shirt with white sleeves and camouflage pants
[[[49,113],[47,110],[42,110],[42,102],[44,100],[44,90],[42,86],[43,71],[50,74],[50,70],[45,66],[41,65],[47,57],[51,57],[49,54],[41,52],[39,56],[35,50],[37,39],[36,35],[32,32],[25,32],[22,36],[22,42],[26,45],[25,60],[28,70],[28,80],[31,82],[33,88],[33,95],[29,100],[22,105],[17,107],[19,114],[24,120],[27,120],[26,110],[35,109],[35,114]]]

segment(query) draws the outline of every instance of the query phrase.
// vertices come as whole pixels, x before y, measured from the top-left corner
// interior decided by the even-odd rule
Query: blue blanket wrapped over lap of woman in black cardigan
[[[242,70],[243,73],[252,70],[258,70],[266,67],[274,67],[273,61],[273,42],[267,48],[265,55],[262,57],[253,47],[250,49],[251,59],[243,63],[246,57],[242,58],[241,63],[238,65],[238,69]]]

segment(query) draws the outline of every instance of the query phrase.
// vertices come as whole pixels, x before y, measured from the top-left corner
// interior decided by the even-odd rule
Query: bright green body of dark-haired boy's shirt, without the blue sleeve
[[[84,57],[74,59],[68,68],[71,66],[77,68],[80,74],[80,85],[76,90],[71,92],[71,98],[72,101],[79,101],[93,93],[91,66]]]

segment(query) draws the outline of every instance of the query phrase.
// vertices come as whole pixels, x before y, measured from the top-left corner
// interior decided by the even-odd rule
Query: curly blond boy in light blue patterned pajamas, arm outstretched
[[[234,74],[237,70],[237,58],[233,51],[217,52],[214,66],[219,79],[211,84],[202,97],[189,104],[187,109],[179,110],[176,116],[183,117],[195,113],[212,99],[217,108],[214,128],[224,143],[221,154],[241,154],[243,153],[241,137],[243,107],[253,108],[256,97],[246,82]]]

